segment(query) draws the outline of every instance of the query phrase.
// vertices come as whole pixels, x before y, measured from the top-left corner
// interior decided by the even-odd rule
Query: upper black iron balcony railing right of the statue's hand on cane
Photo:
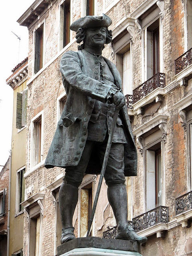
[[[133,90],[133,104],[141,100],[144,96],[147,96],[150,92],[156,88],[164,88],[166,86],[165,74],[157,73],[148,79],[146,82],[138,86]]]

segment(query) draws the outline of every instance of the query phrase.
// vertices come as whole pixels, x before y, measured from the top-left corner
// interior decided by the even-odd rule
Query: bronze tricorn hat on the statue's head
[[[106,14],[102,16],[85,16],[74,21],[70,29],[77,31],[78,28],[107,27],[112,24],[112,20]]]

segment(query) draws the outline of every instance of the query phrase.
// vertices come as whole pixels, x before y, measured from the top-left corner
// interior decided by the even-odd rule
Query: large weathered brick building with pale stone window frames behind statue
[[[138,148],[138,176],[126,179],[128,219],[148,236],[142,255],[190,255],[191,0],[36,0],[19,18],[29,31],[23,254],[57,254],[64,169],[47,170],[44,161],[66,100],[60,58],[77,50],[70,24],[101,13],[113,22],[103,56],[120,72]],[[76,236],[86,235],[98,178],[85,175],[79,188]],[[103,182],[92,236],[109,236],[115,225]]]

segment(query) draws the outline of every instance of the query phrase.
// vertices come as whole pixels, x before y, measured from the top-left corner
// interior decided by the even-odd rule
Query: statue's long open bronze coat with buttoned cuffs
[[[110,60],[104,60],[114,76],[116,87],[121,88],[120,74],[116,66]],[[95,100],[106,102],[111,88],[98,80],[98,59],[85,50],[64,53],[60,71],[67,100],[46,157],[46,168],[78,165],[86,144],[88,122]],[[125,176],[136,176],[137,152],[126,106],[120,110],[120,118],[127,138],[127,144],[124,144]],[[93,152],[86,173],[99,174],[100,170],[97,153]]]

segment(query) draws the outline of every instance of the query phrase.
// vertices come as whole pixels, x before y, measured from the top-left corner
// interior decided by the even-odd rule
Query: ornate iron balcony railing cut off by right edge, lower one
[[[176,215],[192,209],[192,191],[176,198]]]

